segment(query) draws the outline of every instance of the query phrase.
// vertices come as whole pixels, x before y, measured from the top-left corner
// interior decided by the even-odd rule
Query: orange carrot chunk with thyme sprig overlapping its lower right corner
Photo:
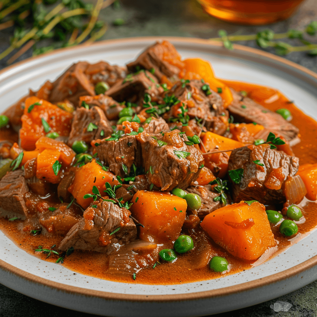
[[[117,178],[110,172],[104,171],[102,167],[93,159],[86,165],[81,166],[75,171],[73,183],[68,187],[68,191],[74,196],[76,202],[86,209],[93,198],[84,198],[86,194],[93,194],[93,186],[96,186],[101,196],[109,183],[111,186],[119,184]]]

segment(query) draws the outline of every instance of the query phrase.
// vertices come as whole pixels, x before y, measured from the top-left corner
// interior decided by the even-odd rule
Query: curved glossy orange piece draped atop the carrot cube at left
[[[56,141],[47,137],[41,137],[38,139],[35,146],[40,152],[45,149],[52,149],[61,152],[61,162],[65,166],[70,165],[76,155],[76,153],[64,142]]]

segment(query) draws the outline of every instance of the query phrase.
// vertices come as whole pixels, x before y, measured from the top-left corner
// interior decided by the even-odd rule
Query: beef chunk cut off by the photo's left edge
[[[0,207],[22,215],[28,214],[23,195],[29,191],[21,169],[8,172],[0,180]]]

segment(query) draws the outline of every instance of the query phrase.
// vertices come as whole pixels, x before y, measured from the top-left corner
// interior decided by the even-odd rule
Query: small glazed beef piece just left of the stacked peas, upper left
[[[120,111],[125,108],[125,106],[120,105],[119,102],[104,94],[80,97],[79,107],[81,107],[83,101],[85,101],[90,108],[98,106],[105,113],[108,120],[118,120]]]

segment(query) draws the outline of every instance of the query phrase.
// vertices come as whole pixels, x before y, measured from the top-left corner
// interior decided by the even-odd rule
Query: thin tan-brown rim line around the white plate
[[[65,51],[74,51],[81,49],[82,47],[89,46],[89,47],[99,47],[103,45],[109,45],[109,44],[122,44],[125,42],[135,42],[135,41],[159,41],[159,40],[167,40],[167,41],[173,41],[173,42],[183,42],[183,43],[193,43],[193,44],[204,44],[209,45],[211,47],[222,47],[222,42],[217,41],[211,41],[206,39],[199,39],[194,37],[178,37],[178,36],[140,36],[140,37],[129,37],[129,38],[121,38],[121,39],[111,39],[111,40],[104,40],[99,41],[94,44],[81,44],[74,47],[69,48],[62,48],[62,49],[56,49],[53,52],[49,52],[46,54],[29,57],[23,61],[17,62],[13,65],[10,65],[8,67],[3,68],[0,71],[0,75],[8,72],[11,69],[19,68],[23,64],[27,64],[30,61],[34,61],[36,59],[41,59],[43,56],[47,57],[50,55],[56,55],[61,52]],[[260,49],[255,49],[247,46],[243,46],[240,44],[234,44],[233,48],[236,51],[243,51],[246,53],[250,53],[252,55],[259,55],[262,57],[265,57],[269,60],[275,60],[278,63],[283,64],[284,66],[288,66],[290,68],[295,68],[301,72],[303,72],[306,75],[314,77],[314,79],[317,80],[317,74],[308,68],[301,66],[299,64],[296,64],[292,61],[289,61],[283,57],[276,56],[274,54],[262,51]],[[262,63],[265,63],[262,60]],[[307,79],[307,77],[306,77]],[[36,276],[34,274],[31,274],[29,272],[23,271],[22,269],[16,268],[15,266],[3,261],[0,259],[0,268],[10,272],[11,274],[14,274],[18,276],[19,278],[23,278],[24,280],[27,280],[32,283],[39,283],[43,286],[54,288],[58,291],[63,291],[70,294],[77,294],[77,295],[85,295],[85,296],[92,296],[92,297],[98,297],[105,300],[123,300],[123,301],[131,301],[131,302],[139,302],[139,301],[146,301],[146,302],[171,302],[171,301],[189,301],[189,300],[197,300],[197,299],[206,299],[206,298],[215,298],[215,297],[223,297],[228,296],[230,294],[235,293],[242,293],[245,291],[250,291],[255,288],[263,287],[271,283],[279,282],[282,280],[286,280],[288,278],[294,277],[295,275],[299,275],[301,272],[304,272],[306,270],[309,270],[310,268],[313,268],[317,265],[317,255],[313,256],[312,258],[293,266],[292,268],[288,268],[284,271],[281,271],[279,273],[275,273],[273,275],[269,275],[263,278],[259,278],[253,281],[248,281],[245,283],[241,283],[238,285],[232,285],[225,288],[217,288],[213,290],[208,291],[201,291],[201,292],[192,292],[192,293],[181,293],[181,294],[165,294],[165,295],[141,295],[141,294],[122,294],[122,293],[111,293],[111,292],[105,292],[100,290],[93,290],[93,289],[87,289],[87,288],[81,288],[77,286],[71,286],[62,284],[55,281],[50,281],[48,279]],[[118,282],[119,283],[119,282]],[[131,283],[131,285],[133,285]],[[142,285],[142,284],[138,284]]]

